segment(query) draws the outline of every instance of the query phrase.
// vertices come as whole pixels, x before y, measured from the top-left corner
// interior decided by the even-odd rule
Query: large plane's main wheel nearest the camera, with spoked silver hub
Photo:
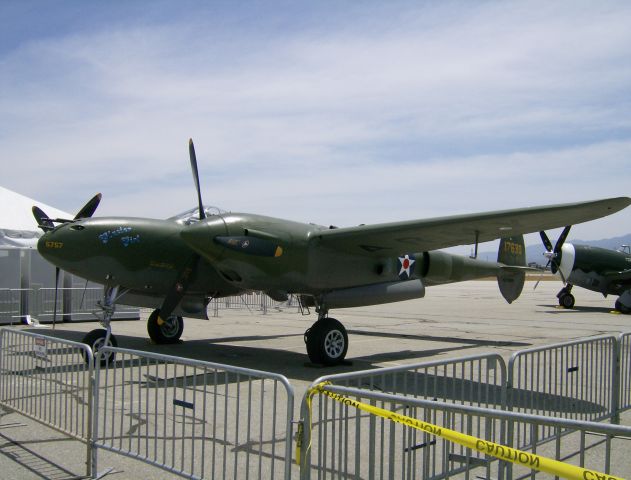
[[[305,332],[307,354],[313,363],[337,365],[346,357],[348,334],[334,318],[318,320]]]

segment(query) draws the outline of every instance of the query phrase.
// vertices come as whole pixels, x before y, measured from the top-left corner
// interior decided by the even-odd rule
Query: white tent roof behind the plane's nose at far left
[[[32,208],[37,205],[50,218],[74,215],[0,187],[0,247],[36,248],[42,231],[37,227]]]

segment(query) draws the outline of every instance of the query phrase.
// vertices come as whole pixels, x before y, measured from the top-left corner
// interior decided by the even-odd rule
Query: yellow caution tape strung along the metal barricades
[[[396,423],[407,425],[408,427],[416,428],[432,435],[444,438],[450,442],[457,443],[466,448],[477,450],[478,452],[490,455],[501,460],[506,460],[518,465],[531,468],[533,470],[539,470],[546,473],[551,473],[559,477],[567,478],[570,480],[624,480],[621,477],[616,477],[606,473],[600,473],[587,468],[577,467],[576,465],[570,465],[568,463],[560,462],[534,453],[524,452],[515,448],[500,445],[498,443],[489,442],[488,440],[482,440],[477,437],[467,435],[464,433],[456,432],[448,428],[439,427],[431,423],[423,422],[415,418],[406,417],[405,415],[399,415],[398,413],[390,410],[385,410],[379,407],[373,407],[366,403],[353,400],[337,393],[329,392],[325,389],[326,385],[330,385],[330,382],[323,382],[315,387],[311,388],[307,396],[307,407],[309,409],[309,415],[311,416],[311,398],[316,393],[321,393],[331,397],[333,400],[343,403],[348,407],[355,407],[359,410],[377,415],[379,417],[387,418]],[[311,425],[311,418],[309,418],[309,425]],[[302,440],[297,442],[296,446],[296,459],[297,463],[300,463],[300,449]]]

